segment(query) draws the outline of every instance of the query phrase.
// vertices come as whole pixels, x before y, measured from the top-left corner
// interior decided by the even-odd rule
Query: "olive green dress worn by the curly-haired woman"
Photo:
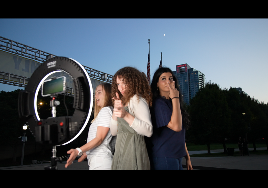
[[[129,112],[128,107],[125,110]],[[144,141],[123,118],[117,118],[118,132],[112,170],[149,170],[150,161]]]

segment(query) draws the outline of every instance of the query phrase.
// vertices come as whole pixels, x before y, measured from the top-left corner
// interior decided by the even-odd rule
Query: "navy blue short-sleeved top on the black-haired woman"
[[[172,102],[158,97],[153,101],[151,116],[153,124],[152,157],[180,158],[186,155],[185,127],[180,132],[166,127],[172,115]]]

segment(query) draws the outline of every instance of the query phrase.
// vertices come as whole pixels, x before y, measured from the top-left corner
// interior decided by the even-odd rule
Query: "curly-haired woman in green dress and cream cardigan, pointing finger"
[[[144,136],[152,136],[152,93],[146,77],[133,67],[120,69],[113,76],[112,96],[110,129],[117,135],[112,169],[150,169]]]

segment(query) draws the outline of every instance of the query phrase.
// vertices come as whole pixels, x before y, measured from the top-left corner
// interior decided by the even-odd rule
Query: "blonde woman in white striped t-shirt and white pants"
[[[111,84],[103,83],[96,87],[94,119],[88,131],[87,144],[80,148],[71,149],[65,168],[70,166],[77,156],[78,162],[88,158],[90,170],[110,170],[116,137],[111,135],[110,121],[113,114],[113,101],[111,98]]]

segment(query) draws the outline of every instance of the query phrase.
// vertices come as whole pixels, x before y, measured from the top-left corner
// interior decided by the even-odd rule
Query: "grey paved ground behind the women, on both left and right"
[[[253,150],[250,148],[249,150]],[[266,150],[266,148],[257,148],[257,150]],[[239,151],[239,149],[235,149]],[[223,152],[223,150],[211,150],[211,152]],[[189,151],[189,154],[207,153],[203,151]],[[191,157],[191,163],[194,169],[243,169],[243,170],[267,170],[268,169],[268,155],[250,155],[243,157]],[[47,164],[38,164],[35,166],[24,165],[15,167],[1,167],[1,169],[9,170],[43,170]],[[78,163],[74,161],[74,164],[65,168],[66,161],[57,165],[59,170],[88,170],[88,162],[83,161]],[[183,164],[185,159],[183,158]],[[183,165],[185,167],[185,165]],[[185,168],[184,168],[185,169]]]

